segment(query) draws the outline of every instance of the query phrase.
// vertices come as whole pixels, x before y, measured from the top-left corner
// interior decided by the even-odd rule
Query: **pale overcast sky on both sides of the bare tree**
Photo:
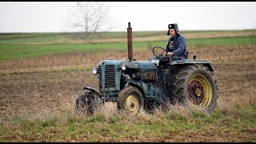
[[[73,2],[0,2],[0,33],[63,32]],[[256,2],[106,2],[113,31],[256,28]]]

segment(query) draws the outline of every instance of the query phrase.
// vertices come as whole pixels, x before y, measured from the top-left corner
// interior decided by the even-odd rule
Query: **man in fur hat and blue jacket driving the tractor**
[[[180,34],[177,23],[168,25],[167,35],[170,38],[166,46],[166,56],[171,56],[172,61],[187,59],[186,38]]]

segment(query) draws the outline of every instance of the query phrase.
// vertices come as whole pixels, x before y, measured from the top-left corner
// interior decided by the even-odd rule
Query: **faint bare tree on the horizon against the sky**
[[[76,2],[70,11],[73,18],[70,28],[82,32],[80,36],[87,39],[99,31],[109,31],[112,27],[109,20],[109,7],[104,2]],[[109,20],[110,21],[110,20]]]

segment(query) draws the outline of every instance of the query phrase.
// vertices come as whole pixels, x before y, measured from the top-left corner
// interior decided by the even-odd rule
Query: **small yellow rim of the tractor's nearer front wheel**
[[[138,107],[138,98],[134,94],[130,94],[126,98],[126,110],[128,110],[130,114],[136,114],[138,112]]]

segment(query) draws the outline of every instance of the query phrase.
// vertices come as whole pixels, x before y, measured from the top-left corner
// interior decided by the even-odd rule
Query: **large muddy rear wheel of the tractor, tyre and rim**
[[[174,97],[190,110],[212,114],[217,106],[218,87],[207,66],[186,66],[176,75]]]

